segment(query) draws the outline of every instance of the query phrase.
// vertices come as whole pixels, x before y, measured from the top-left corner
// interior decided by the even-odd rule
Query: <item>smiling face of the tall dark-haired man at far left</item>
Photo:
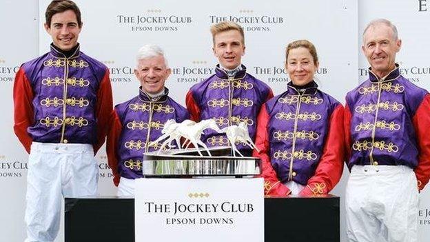
[[[72,10],[52,15],[51,26],[45,23],[45,30],[52,37],[54,45],[65,51],[76,46],[81,27],[79,27],[76,14]]]

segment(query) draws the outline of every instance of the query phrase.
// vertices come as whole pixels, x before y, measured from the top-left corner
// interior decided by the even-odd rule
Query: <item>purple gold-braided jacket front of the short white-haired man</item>
[[[187,109],[167,94],[166,88],[163,96],[157,101],[151,101],[150,97],[140,90],[139,96],[115,106],[115,112],[123,125],[117,148],[118,172],[121,177],[127,179],[143,177],[141,166],[143,153],[158,150],[157,147],[147,144],[161,136],[165,121],[174,119],[176,123],[181,123],[185,119],[190,119]],[[149,122],[152,125],[148,125]],[[172,145],[176,143],[173,142]]]

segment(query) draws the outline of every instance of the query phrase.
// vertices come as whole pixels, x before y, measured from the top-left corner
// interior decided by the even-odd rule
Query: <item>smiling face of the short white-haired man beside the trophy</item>
[[[159,55],[139,60],[134,74],[145,92],[157,94],[163,90],[164,83],[170,75],[170,68],[165,66],[164,57]]]

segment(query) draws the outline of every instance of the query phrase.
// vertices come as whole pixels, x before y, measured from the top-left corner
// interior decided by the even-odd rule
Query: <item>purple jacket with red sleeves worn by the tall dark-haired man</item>
[[[69,58],[51,46],[24,63],[15,78],[14,101],[14,128],[25,146],[90,143],[97,150],[105,141],[112,115],[109,72],[79,46]]]

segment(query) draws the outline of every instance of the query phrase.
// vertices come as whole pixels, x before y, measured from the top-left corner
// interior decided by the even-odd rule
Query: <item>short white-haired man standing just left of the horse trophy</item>
[[[165,81],[170,72],[160,47],[146,45],[137,53],[134,74],[141,84],[139,95],[115,106],[107,134],[107,162],[119,196],[134,196],[134,179],[143,177],[143,153],[161,148],[161,143],[152,142],[162,135],[164,123],[169,119],[181,123],[190,117],[169,97]]]

